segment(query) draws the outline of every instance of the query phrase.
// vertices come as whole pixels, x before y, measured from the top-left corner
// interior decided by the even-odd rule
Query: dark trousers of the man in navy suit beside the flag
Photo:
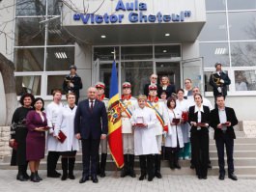
[[[82,139],[83,153],[83,176],[88,177],[97,175],[97,161],[100,148],[100,139]],[[90,167],[91,165],[91,167]]]

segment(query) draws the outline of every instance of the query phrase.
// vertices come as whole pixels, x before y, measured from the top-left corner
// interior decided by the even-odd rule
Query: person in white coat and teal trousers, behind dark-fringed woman
[[[188,108],[189,102],[185,99],[185,91],[183,89],[177,90],[178,99],[176,100],[176,108],[180,109],[183,114],[185,114],[185,122],[181,123],[183,139],[184,139],[184,149],[179,152],[180,159],[189,160],[190,158],[190,124],[188,121]]]

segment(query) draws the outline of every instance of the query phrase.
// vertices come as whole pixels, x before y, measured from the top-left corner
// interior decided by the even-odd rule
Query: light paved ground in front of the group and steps
[[[256,179],[240,179],[237,181],[225,178],[219,180],[216,176],[208,179],[198,179],[195,176],[163,175],[163,178],[154,178],[153,181],[140,181],[137,178],[119,178],[115,172],[107,172],[106,178],[99,178],[99,183],[88,180],[80,184],[81,171],[75,171],[75,179],[65,181],[60,178],[46,178],[46,171],[40,170],[41,182],[19,181],[15,179],[16,170],[0,170],[0,191],[18,192],[253,192],[256,191]],[[119,176],[120,173],[118,173]]]

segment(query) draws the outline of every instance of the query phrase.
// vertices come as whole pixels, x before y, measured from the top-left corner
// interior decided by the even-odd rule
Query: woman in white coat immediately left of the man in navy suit
[[[74,135],[73,119],[77,106],[75,105],[75,95],[70,93],[67,95],[68,104],[63,107],[63,110],[59,113],[57,123],[54,128],[54,136],[56,139],[61,139],[59,136],[62,131],[67,138],[63,143],[58,142],[57,151],[60,151],[62,155],[62,180],[69,178],[74,179],[73,167],[75,162],[76,151],[79,150],[79,143]],[[69,169],[69,175],[68,175]]]

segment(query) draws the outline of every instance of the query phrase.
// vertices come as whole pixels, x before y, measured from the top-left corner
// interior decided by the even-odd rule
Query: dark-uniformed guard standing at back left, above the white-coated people
[[[83,88],[81,77],[76,74],[76,66],[71,65],[71,73],[68,74],[63,82],[62,88],[65,94],[75,94],[75,104],[77,105],[79,99],[79,90]]]

